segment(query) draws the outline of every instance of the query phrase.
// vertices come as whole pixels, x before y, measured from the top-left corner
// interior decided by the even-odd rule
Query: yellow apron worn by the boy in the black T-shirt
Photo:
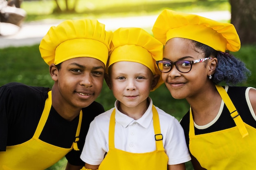
[[[34,136],[28,141],[15,146],[7,146],[6,152],[0,152],[0,170],[45,170],[63,158],[72,148],[77,148],[82,121],[82,111],[76,130],[76,140],[71,148],[61,148],[47,144],[39,139],[52,106],[52,91],[48,92],[45,108]]]

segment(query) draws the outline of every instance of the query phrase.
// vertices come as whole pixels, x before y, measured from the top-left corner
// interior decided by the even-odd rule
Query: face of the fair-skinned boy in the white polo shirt
[[[116,62],[111,66],[110,89],[125,108],[145,107],[152,89],[153,73],[137,62]]]

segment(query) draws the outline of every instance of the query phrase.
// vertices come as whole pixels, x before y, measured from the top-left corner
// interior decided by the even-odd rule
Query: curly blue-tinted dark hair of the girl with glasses
[[[204,53],[205,57],[217,57],[218,65],[216,72],[212,75],[214,84],[225,82],[229,86],[234,86],[238,83],[245,82],[251,75],[251,71],[246,68],[245,63],[234,55],[228,52],[222,53],[200,42],[192,41],[195,47]]]

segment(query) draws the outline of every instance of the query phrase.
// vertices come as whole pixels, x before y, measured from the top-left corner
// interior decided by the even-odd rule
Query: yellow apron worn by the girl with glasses
[[[236,126],[195,135],[190,108],[189,150],[207,170],[255,170],[256,129],[243,122],[227,92],[216,86]]]

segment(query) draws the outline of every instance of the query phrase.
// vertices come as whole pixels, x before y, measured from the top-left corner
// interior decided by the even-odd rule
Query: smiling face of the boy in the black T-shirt
[[[77,57],[62,62],[56,72],[58,100],[74,108],[84,108],[101,92],[105,65],[95,58]]]

